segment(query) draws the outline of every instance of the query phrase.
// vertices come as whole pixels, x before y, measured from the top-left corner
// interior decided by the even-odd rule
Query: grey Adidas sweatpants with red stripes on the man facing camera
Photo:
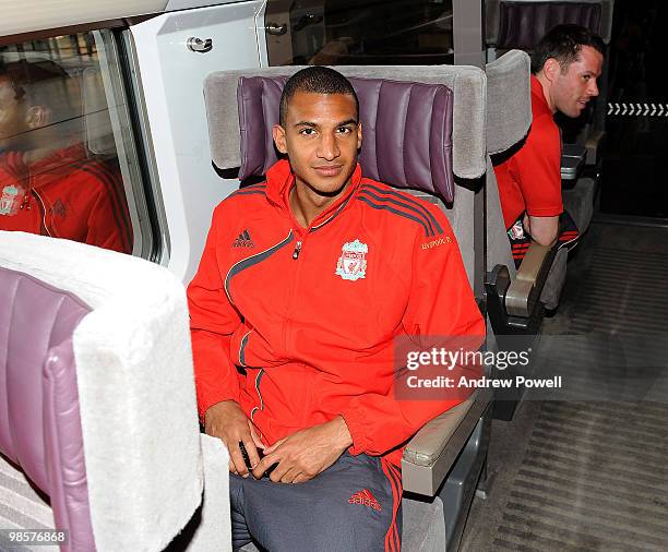
[[[398,552],[399,471],[373,456],[344,453],[303,483],[230,473],[235,550],[255,541],[271,552]]]

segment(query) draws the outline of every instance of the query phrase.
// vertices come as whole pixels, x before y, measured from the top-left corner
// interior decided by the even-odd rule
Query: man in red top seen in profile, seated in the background
[[[561,137],[554,113],[580,117],[598,96],[604,43],[580,25],[557,25],[532,55],[532,128],[524,145],[494,167],[515,265],[532,239],[572,247],[578,229],[561,199]]]

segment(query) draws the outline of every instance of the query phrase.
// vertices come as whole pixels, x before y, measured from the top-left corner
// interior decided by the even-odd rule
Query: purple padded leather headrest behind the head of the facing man
[[[272,127],[278,123],[287,76],[241,76],[237,88],[241,131],[239,179],[264,175],[278,160]],[[367,178],[454,200],[453,93],[442,84],[350,77],[360,105]]]

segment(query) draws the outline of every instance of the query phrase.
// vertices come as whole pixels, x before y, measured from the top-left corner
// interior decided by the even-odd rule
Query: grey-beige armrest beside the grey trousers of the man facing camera
[[[490,389],[477,389],[464,403],[426,423],[415,434],[402,458],[405,491],[428,496],[437,493],[490,399]]]

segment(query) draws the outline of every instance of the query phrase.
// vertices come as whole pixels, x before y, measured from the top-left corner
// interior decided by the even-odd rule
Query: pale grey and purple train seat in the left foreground
[[[63,551],[229,550],[189,344],[165,268],[0,231],[0,527],[67,530]]]

